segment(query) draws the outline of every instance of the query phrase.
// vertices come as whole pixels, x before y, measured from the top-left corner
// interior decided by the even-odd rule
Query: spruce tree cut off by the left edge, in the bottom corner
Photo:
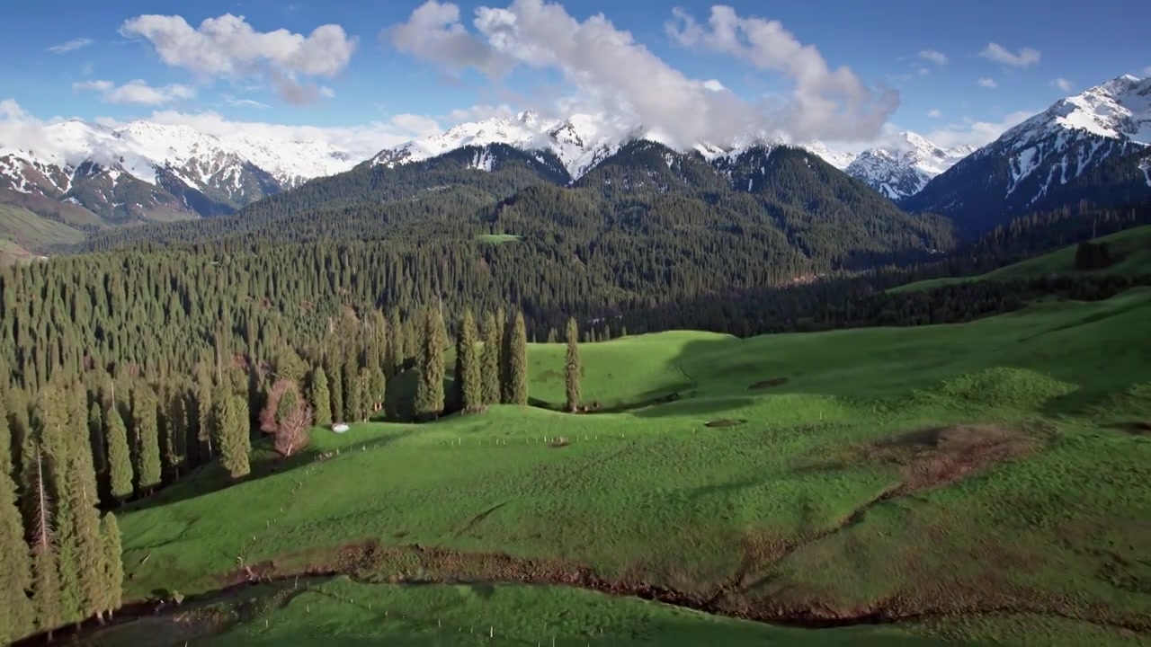
[[[8,421],[0,416],[0,436],[8,436]],[[0,645],[32,633],[36,619],[25,591],[32,587],[32,560],[24,540],[24,524],[16,498],[16,481],[0,469]]]

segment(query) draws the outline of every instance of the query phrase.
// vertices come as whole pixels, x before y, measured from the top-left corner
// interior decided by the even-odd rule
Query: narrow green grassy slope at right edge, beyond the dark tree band
[[[1047,274],[1095,274],[1095,275],[1131,275],[1151,272],[1151,224],[1125,229],[1110,236],[1095,238],[1095,243],[1107,243],[1112,258],[1118,261],[1108,267],[1091,271],[1075,269],[1075,249],[1069,245],[1049,254],[1030,258],[1006,267],[1000,267],[978,276],[955,276],[916,281],[889,291],[927,290],[951,283],[967,281],[1011,281],[1014,279],[1035,279]]]

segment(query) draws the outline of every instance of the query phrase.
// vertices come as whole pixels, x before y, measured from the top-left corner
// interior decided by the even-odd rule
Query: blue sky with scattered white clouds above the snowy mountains
[[[39,120],[161,113],[404,138],[501,109],[623,105],[668,128],[709,115],[796,138],[862,145],[912,129],[952,144],[1120,74],[1151,75],[1151,6],[1130,0],[732,0],[718,14],[692,0],[12,5],[0,100]],[[228,14],[205,35],[203,21]],[[321,25],[338,28],[311,36]],[[261,36],[276,30],[296,36]],[[703,82],[724,90],[701,92]]]

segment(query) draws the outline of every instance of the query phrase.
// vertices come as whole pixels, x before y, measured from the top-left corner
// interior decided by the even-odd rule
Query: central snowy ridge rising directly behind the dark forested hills
[[[576,181],[634,140],[649,140],[680,150],[672,144],[672,137],[660,130],[623,125],[604,115],[577,114],[567,119],[542,119],[533,112],[524,112],[513,117],[462,123],[444,132],[386,149],[372,159],[372,165],[395,167],[424,161],[464,146],[508,144],[524,151],[550,151]],[[722,157],[738,155],[748,149],[771,147],[783,143],[777,137],[748,134],[726,145],[700,142],[689,151],[681,152],[694,151],[706,160],[714,161]],[[801,147],[840,170],[854,159],[851,153],[833,151],[821,142],[802,144]]]

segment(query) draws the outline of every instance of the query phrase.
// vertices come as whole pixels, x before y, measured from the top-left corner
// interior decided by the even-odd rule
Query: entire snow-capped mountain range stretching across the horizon
[[[308,180],[419,166],[456,151],[471,152],[464,168],[490,172],[494,145],[525,152],[548,168],[549,181],[586,185],[590,172],[631,143],[650,142],[666,150],[668,166],[672,153],[687,154],[729,175],[741,157],[767,159],[775,149],[799,147],[904,211],[939,213],[962,231],[978,233],[1029,211],[1144,197],[1151,189],[1151,79],[1120,76],[1061,99],[978,150],[945,149],[901,132],[859,154],[762,134],[684,151],[655,129],[620,128],[597,115],[547,119],[532,112],[462,123],[367,160],[322,140],[216,137],[146,121],[109,128],[71,120],[43,127],[35,145],[24,139],[18,146],[0,142],[0,204],[82,231],[226,215]]]

